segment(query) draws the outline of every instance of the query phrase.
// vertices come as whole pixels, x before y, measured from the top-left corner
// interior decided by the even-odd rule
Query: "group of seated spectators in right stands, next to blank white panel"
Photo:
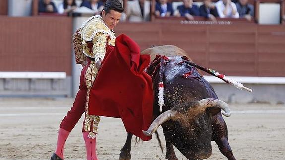
[[[203,0],[199,7],[193,3],[193,0],[183,0],[176,11],[173,11],[171,3],[167,0],[159,0],[156,3],[156,16],[167,17],[177,16],[186,17],[188,20],[194,20],[194,16],[202,16],[216,21],[219,18],[246,18],[251,20],[254,13],[254,7],[248,3],[248,0],[238,0],[236,3],[231,0],[219,0],[213,3],[211,0]]]

